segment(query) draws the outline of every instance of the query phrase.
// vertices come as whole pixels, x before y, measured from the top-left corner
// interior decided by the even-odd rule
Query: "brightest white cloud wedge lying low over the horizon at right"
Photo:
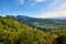
[[[38,15],[37,18],[63,18],[66,16],[66,10],[59,12],[48,12]]]

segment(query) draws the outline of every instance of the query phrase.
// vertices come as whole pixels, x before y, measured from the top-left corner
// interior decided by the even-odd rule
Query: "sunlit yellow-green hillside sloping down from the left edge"
[[[0,16],[0,44],[52,44],[55,37],[51,35],[20,23],[14,18]]]

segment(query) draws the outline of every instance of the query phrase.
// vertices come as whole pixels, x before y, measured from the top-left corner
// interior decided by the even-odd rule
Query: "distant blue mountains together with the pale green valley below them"
[[[25,15],[16,15],[16,20],[24,24],[28,24],[30,26],[43,31],[51,31],[52,29],[66,25],[65,19],[40,19],[40,18],[30,18]]]

